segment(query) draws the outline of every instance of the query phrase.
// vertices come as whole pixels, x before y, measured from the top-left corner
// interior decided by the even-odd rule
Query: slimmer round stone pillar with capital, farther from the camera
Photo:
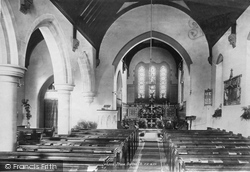
[[[58,94],[58,134],[69,134],[70,132],[70,92],[73,85],[55,84]]]

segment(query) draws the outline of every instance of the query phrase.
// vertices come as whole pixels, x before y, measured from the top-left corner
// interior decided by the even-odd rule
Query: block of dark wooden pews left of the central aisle
[[[126,170],[139,141],[138,130],[79,129],[69,135],[48,132],[53,129],[18,130],[17,149],[0,152],[0,168],[10,164],[12,171],[20,171],[17,167],[23,171]],[[34,164],[36,169],[27,169]]]

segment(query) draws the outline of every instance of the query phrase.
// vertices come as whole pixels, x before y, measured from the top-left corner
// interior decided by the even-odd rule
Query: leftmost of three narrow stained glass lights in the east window
[[[138,98],[145,98],[145,67],[138,69]]]

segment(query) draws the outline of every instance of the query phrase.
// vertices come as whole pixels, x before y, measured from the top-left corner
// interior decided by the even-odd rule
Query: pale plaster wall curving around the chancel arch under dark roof
[[[107,92],[112,92],[112,88],[107,88],[108,83],[113,83],[110,77],[114,73],[111,65],[117,53],[133,38],[151,30],[150,6],[141,6],[133,9],[113,23],[107,31],[100,48],[100,66],[97,69],[97,99],[106,102],[112,101],[112,96],[108,97]],[[167,16],[167,17],[166,17]],[[208,45],[204,35],[195,39],[188,36],[192,29],[190,21],[193,20],[179,10],[164,6],[153,6],[152,29],[161,32],[175,39],[187,51],[193,64],[190,69],[190,83],[187,83],[185,90],[190,92],[187,101],[187,115],[197,116],[194,122],[194,129],[206,128],[206,114],[209,109],[204,107],[204,90],[211,87],[211,66],[207,61],[209,56]],[[136,29],[135,29],[136,28]]]

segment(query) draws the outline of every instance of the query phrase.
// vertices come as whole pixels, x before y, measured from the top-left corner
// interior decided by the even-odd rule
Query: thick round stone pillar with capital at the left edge
[[[0,64],[0,151],[16,148],[17,84],[25,68]]]

